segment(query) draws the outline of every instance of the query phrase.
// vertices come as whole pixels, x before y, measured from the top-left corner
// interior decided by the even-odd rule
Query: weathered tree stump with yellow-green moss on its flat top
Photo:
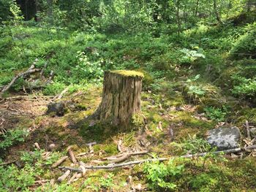
[[[97,118],[113,125],[127,125],[140,112],[140,93],[143,74],[135,71],[105,72],[102,102]]]

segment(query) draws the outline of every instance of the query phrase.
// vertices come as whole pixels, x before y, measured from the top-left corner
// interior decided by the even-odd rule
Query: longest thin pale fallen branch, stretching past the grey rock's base
[[[252,145],[249,147],[244,147],[244,148],[235,148],[235,149],[231,149],[231,150],[221,150],[221,151],[215,151],[214,154],[220,154],[220,153],[238,153],[244,150],[252,150],[252,149],[256,149],[256,145]],[[114,168],[118,168],[118,167],[123,167],[123,166],[132,166],[135,164],[143,164],[146,161],[148,162],[152,162],[152,161],[168,161],[172,158],[192,158],[192,157],[200,157],[200,156],[205,156],[208,153],[197,153],[197,154],[192,154],[192,155],[182,155],[182,156],[178,156],[178,157],[169,157],[169,158],[147,158],[147,159],[143,159],[143,160],[138,160],[138,161],[129,161],[127,163],[123,163],[123,164],[108,164],[106,166],[86,166],[83,162],[83,167],[85,169],[114,169]],[[81,162],[80,162],[81,164]],[[67,170],[71,170],[71,171],[75,171],[75,172],[82,172],[82,169],[78,169],[78,168],[73,168],[73,167],[69,167],[69,166],[59,166],[59,169],[67,169]]]

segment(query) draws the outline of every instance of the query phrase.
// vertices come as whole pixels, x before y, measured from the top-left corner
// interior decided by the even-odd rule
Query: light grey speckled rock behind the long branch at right
[[[208,131],[207,141],[218,150],[228,150],[240,147],[241,133],[237,127],[214,128]]]

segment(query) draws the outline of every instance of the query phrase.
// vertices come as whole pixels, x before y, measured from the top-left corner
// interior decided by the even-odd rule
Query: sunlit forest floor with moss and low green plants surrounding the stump
[[[255,12],[243,18],[159,37],[37,23],[1,28],[0,88],[31,64],[44,72],[18,79],[1,96],[0,191],[255,191],[255,151],[215,155],[206,142],[209,130],[236,126],[240,146],[255,145],[256,135],[248,139],[244,126],[256,124],[256,61],[248,53],[255,49]],[[86,120],[101,101],[104,71],[119,69],[143,72],[141,113],[125,128]],[[50,102],[64,103],[64,114],[48,113]],[[148,153],[123,162],[175,159],[87,170],[70,184],[72,171],[57,182],[65,171],[52,165],[69,148],[88,166],[141,151]],[[203,152],[208,155],[177,158]],[[80,164],[67,158],[60,166]]]

